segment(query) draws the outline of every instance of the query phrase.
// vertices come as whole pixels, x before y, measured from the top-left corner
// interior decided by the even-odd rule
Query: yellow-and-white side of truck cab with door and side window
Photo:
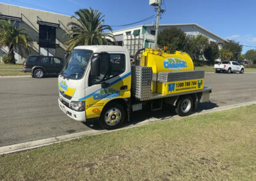
[[[106,75],[106,66],[101,63],[100,76],[93,82],[92,75],[88,76],[88,88],[85,94],[86,119],[99,117],[104,105],[117,98],[130,98],[131,69],[127,67],[125,54],[109,54],[110,68]]]

